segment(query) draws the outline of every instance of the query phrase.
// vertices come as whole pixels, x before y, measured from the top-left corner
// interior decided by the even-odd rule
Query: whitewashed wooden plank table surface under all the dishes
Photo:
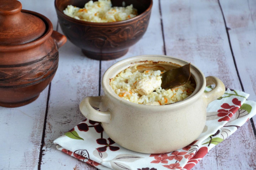
[[[62,33],[54,0],[20,0],[22,8],[48,17]],[[144,54],[178,57],[226,87],[256,101],[256,0],[154,0],[143,38],[123,57],[97,61],[69,41],[59,49],[52,83],[29,105],[0,107],[0,169],[96,168],[56,150],[54,139],[84,119],[78,105],[102,95],[100,81],[112,64]],[[0,94],[1,95],[1,94]],[[193,170],[256,169],[256,117],[214,147]]]

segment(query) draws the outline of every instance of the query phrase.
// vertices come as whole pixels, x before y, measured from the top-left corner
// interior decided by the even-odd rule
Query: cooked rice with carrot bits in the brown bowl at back
[[[64,14],[78,20],[90,22],[115,22],[127,20],[138,15],[132,4],[126,7],[112,7],[110,0],[90,0],[84,5],[84,8],[68,5],[63,11]]]

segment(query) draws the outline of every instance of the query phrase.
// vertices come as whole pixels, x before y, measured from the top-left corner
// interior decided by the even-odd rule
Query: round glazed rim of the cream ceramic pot
[[[159,57],[159,59],[156,59],[156,57]],[[178,63],[183,63],[183,64],[190,63],[188,61],[178,59],[176,57],[170,57],[167,55],[139,55],[139,56],[130,57],[130,58],[118,61],[114,65],[110,66],[105,71],[105,73],[102,77],[102,88],[103,88],[105,95],[110,96],[116,102],[121,102],[121,103],[124,103],[125,105],[130,105],[131,107],[136,107],[136,108],[140,107],[141,109],[150,109],[150,110],[160,111],[159,109],[161,109],[161,108],[162,109],[164,109],[164,108],[165,109],[177,109],[177,108],[184,107],[184,105],[189,105],[189,104],[193,103],[194,101],[196,101],[198,98],[200,98],[202,96],[202,93],[204,93],[204,90],[206,87],[205,76],[202,73],[202,71],[200,71],[200,69],[198,69],[195,65],[190,63],[190,71],[191,71],[191,75],[193,76],[194,80],[196,81],[196,88],[195,88],[195,91],[189,97],[187,97],[186,99],[184,99],[182,101],[178,101],[176,103],[172,103],[169,105],[160,105],[160,106],[140,105],[138,103],[126,101],[126,100],[122,99],[121,97],[119,97],[118,95],[116,95],[116,93],[114,92],[114,90],[112,89],[112,87],[109,84],[110,79],[113,78],[113,74],[115,73],[115,75],[114,75],[114,77],[115,77],[118,73],[120,73],[124,69],[135,65],[136,61],[146,61],[146,60],[148,60],[148,61],[166,61],[167,60],[166,62],[171,62],[171,63],[178,62]],[[174,60],[174,62],[170,61],[170,60]],[[116,71],[113,71],[114,68],[116,68]],[[110,75],[112,77],[110,77]],[[200,82],[199,82],[199,79],[201,80]]]

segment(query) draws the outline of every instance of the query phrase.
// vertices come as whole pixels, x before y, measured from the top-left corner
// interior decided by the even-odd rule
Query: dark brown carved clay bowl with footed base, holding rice
[[[133,4],[138,10],[138,16],[118,22],[87,22],[76,20],[63,13],[68,5],[83,8],[88,1],[55,0],[55,9],[64,35],[70,42],[81,48],[87,57],[98,60],[121,57],[146,32],[152,0],[111,0],[113,6],[122,6],[124,1],[126,6]]]

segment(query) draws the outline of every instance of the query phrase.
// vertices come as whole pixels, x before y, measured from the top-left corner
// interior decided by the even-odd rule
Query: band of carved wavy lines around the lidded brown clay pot
[[[34,61],[0,65],[0,88],[25,87],[52,76],[58,68],[59,55],[55,48],[54,45],[48,55]]]

